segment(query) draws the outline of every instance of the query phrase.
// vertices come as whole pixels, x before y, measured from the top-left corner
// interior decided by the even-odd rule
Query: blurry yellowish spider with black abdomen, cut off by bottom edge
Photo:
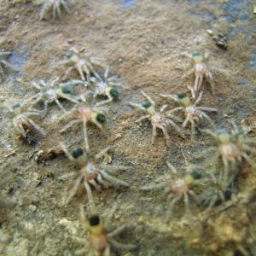
[[[114,239],[115,236],[119,236],[125,231],[131,230],[132,226],[121,225],[119,228],[109,231],[109,229],[106,228],[104,219],[98,213],[90,214],[87,218],[84,217],[84,211],[82,211],[81,214],[84,230],[90,232],[90,244],[88,239],[72,236],[74,241],[78,241],[81,245],[86,245],[86,248],[76,251],[76,255],[87,255],[88,246],[91,246],[98,256],[111,256],[111,247],[126,252],[133,251],[137,248],[133,244],[119,242]],[[91,254],[89,253],[88,255]]]

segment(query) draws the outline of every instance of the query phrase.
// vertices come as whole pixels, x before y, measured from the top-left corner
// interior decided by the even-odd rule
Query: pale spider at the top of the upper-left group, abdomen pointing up
[[[101,60],[96,57],[91,57],[88,55],[84,55],[82,57],[79,51],[75,48],[71,48],[69,53],[66,55],[66,60],[61,61],[61,64],[66,64],[68,66],[67,71],[64,75],[64,78],[67,77],[67,74],[70,73],[73,69],[76,69],[79,72],[80,78],[85,81],[84,74],[88,82],[90,82],[90,74],[92,73],[96,79],[101,80],[101,77],[98,73],[96,73],[96,67],[106,68],[107,65],[104,64]]]

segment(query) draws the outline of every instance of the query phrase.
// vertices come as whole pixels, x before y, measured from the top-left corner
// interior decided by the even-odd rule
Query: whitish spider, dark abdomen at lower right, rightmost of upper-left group
[[[97,102],[96,106],[100,106],[106,104],[108,102],[113,102],[113,100],[117,99],[119,96],[119,91],[114,89],[113,86],[119,86],[125,88],[124,85],[121,84],[120,79],[117,76],[108,77],[109,68],[106,69],[103,79],[92,78],[96,85],[96,90],[94,93],[94,97],[96,96],[107,96],[108,99],[102,102]]]

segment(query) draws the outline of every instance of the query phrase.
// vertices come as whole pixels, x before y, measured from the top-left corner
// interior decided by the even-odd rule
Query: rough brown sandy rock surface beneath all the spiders
[[[160,107],[166,103],[160,93],[175,94],[193,84],[193,75],[183,78],[191,62],[180,54],[198,49],[208,52],[210,65],[217,67],[212,68],[217,93],[213,96],[205,84],[201,102],[202,106],[218,108],[217,114],[211,114],[214,122],[229,128],[231,119],[240,124],[241,119],[255,115],[253,4],[235,0],[84,0],[73,5],[72,14],[63,11],[61,18],[55,20],[50,14],[39,20],[40,9],[32,3],[0,3],[0,46],[12,52],[7,60],[19,70],[5,69],[7,77],[0,84],[0,191],[17,201],[16,207],[1,209],[0,254],[75,255],[83,245],[72,236],[89,239],[79,215],[80,205],[88,208],[83,187],[68,206],[60,206],[72,181],[57,177],[73,172],[73,163],[63,155],[38,160],[38,155],[58,147],[58,142],[65,142],[68,147],[82,145],[81,126],[61,135],[61,110],[53,104],[47,116],[37,120],[47,136],[32,133],[22,141],[15,136],[12,114],[7,108],[35,94],[31,81],[62,78],[65,67],[59,63],[68,49],[75,47],[107,61],[110,72],[128,84],[126,90],[120,91],[119,100],[106,107],[105,134],[94,125],[89,127],[93,154],[111,146],[114,165],[132,166],[132,171],[117,174],[131,184],[129,189],[93,191],[98,212],[106,218],[113,212],[111,227],[135,226],[118,240],[134,243],[137,250],[113,253],[256,255],[256,172],[247,164],[241,167],[237,193],[227,206],[214,207],[206,214],[191,203],[191,214],[184,217],[181,203],[166,224],[166,200],[162,194],[143,193],[138,188],[160,181],[163,175],[170,176],[166,160],[179,168],[186,165],[185,160],[187,164],[196,162],[197,152],[212,145],[212,139],[197,134],[195,143],[191,143],[188,129],[187,139],[170,131],[169,148],[161,132],[152,145],[150,124],[137,125],[135,120],[140,113],[128,105],[142,102],[140,90],[144,90]],[[207,29],[223,32],[228,49],[218,48]],[[78,79],[78,73],[72,73],[72,77]],[[72,106],[67,102],[63,105]],[[90,255],[90,248],[84,247],[85,255]]]

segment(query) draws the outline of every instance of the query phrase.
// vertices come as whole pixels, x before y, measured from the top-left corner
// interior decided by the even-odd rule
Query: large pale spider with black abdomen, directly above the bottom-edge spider
[[[95,203],[92,197],[90,185],[92,185],[96,190],[100,190],[100,186],[98,185],[98,183],[105,188],[108,188],[111,185],[115,187],[129,187],[128,183],[125,183],[124,181],[111,176],[110,174],[108,174],[108,172],[111,173],[119,170],[126,171],[130,170],[130,167],[96,164],[96,160],[99,160],[102,158],[102,156],[106,155],[110,147],[102,149],[102,151],[96,154],[94,157],[88,155],[87,152],[84,151],[84,149],[82,148],[73,148],[71,153],[68,152],[67,148],[62,143],[61,148],[67,155],[67,158],[73,161],[77,166],[79,166],[80,169],[79,172],[71,172],[62,175],[61,177],[58,177],[58,179],[76,177],[73,189],[71,189],[71,191],[69,192],[67,201],[65,201],[64,203],[65,205],[67,205],[73,199],[73,196],[76,195],[81,182],[84,183],[84,188],[86,189],[89,203],[92,208],[95,208]]]

